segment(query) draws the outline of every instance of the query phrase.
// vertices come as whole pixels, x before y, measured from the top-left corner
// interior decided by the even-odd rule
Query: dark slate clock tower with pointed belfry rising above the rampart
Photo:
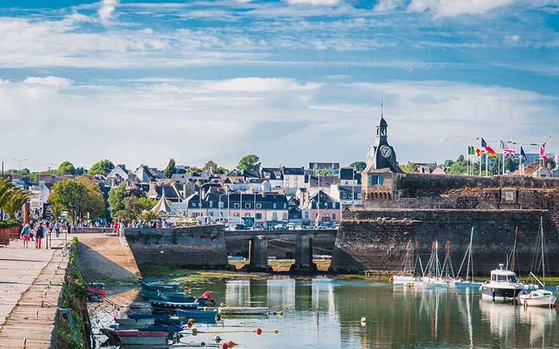
[[[404,173],[398,163],[396,163],[396,154],[394,148],[389,144],[386,134],[388,128],[386,120],[381,113],[379,123],[377,124],[377,138],[375,145],[369,148],[367,154],[367,167],[365,172],[375,172],[375,170],[384,170],[393,173]]]

